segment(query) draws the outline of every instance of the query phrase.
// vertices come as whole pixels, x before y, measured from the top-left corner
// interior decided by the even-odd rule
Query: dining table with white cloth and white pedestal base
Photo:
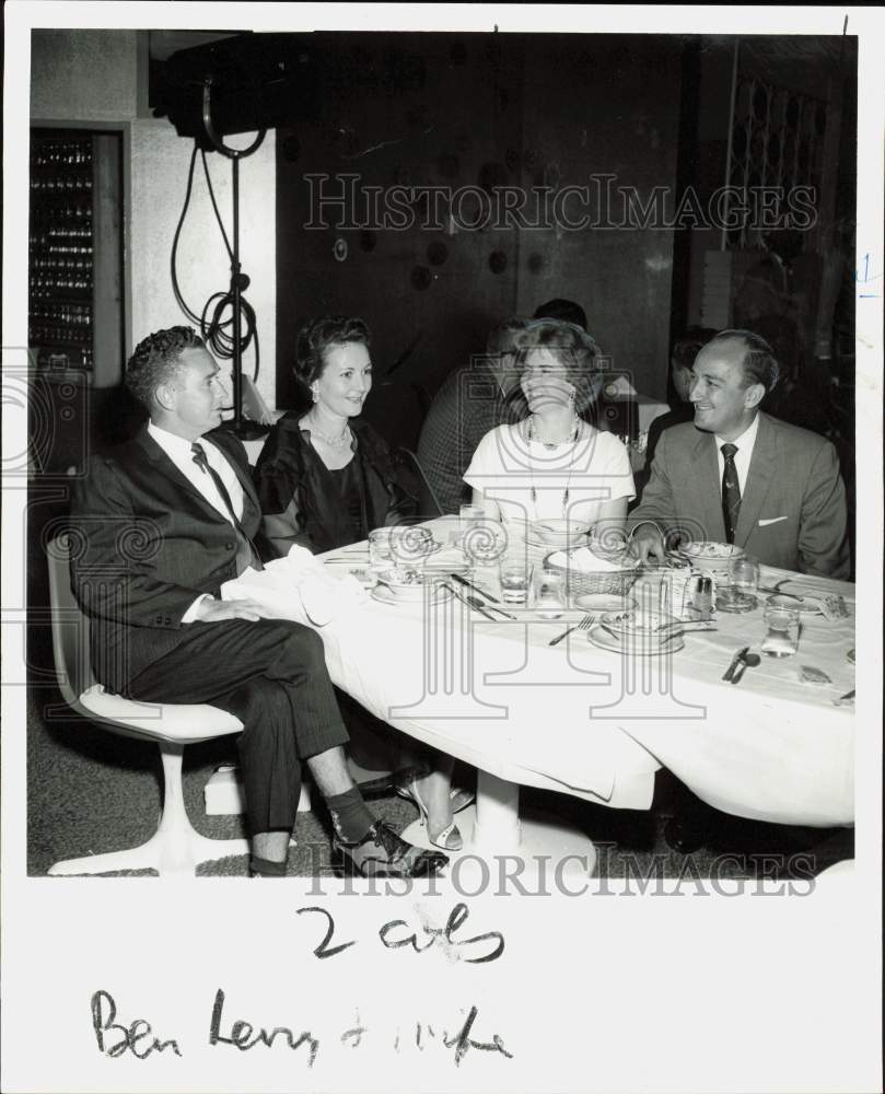
[[[463,556],[458,565],[451,546],[456,525],[442,517],[427,526],[440,544],[434,568],[445,570],[451,559],[463,577]],[[546,551],[526,550],[540,568]],[[252,596],[314,627],[339,688],[396,730],[476,768],[475,810],[458,814],[462,853],[554,856],[592,873],[586,834],[556,815],[521,812],[520,788],[643,810],[661,767],[737,816],[853,824],[853,703],[841,698],[854,687],[852,584],[762,567],[764,587],[780,582],[807,607],[797,653],[776,659],[760,653],[764,592],[755,609],[715,613],[712,629],[687,630],[649,653],[619,648],[598,619],[578,626],[592,614],[580,606],[546,618],[531,594],[524,606],[502,603],[487,580],[491,571],[466,571],[473,590],[451,578],[409,600],[387,586],[362,587],[357,579],[368,572],[364,543],[316,557],[293,550],[222,594]],[[669,586],[680,575],[640,570],[632,595],[657,603],[664,585],[673,604]],[[814,609],[813,597],[825,595],[838,610]],[[732,684],[722,677],[743,649],[759,663]],[[417,823],[405,835],[428,846]]]

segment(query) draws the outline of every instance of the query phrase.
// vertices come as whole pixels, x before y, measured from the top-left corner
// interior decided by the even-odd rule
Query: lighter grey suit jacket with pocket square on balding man
[[[631,526],[652,520],[691,539],[724,542],[715,439],[673,426],[657,442],[651,479]],[[823,437],[759,414],[734,542],[766,566],[847,579],[845,486]]]

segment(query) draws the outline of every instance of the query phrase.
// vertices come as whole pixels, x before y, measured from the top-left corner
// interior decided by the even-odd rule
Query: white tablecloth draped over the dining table
[[[853,608],[853,585],[813,583]],[[314,625],[298,596],[280,597],[279,575],[233,583],[225,595],[261,598],[263,587],[276,615]],[[663,765],[741,816],[853,823],[853,708],[831,702],[854,686],[853,610],[832,622],[803,617],[797,656],[765,657],[732,686],[720,677],[738,648],[758,652],[761,608],[721,615],[717,632],[687,633],[669,657],[628,659],[581,631],[550,648],[580,618],[573,610],[490,622],[453,597],[343,605],[317,627],[333,680],[397,729],[500,778],[640,808]],[[804,664],[832,683],[802,683]]]

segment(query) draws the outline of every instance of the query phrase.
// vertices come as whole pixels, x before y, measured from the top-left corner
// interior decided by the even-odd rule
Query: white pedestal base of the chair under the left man
[[[163,760],[163,810],[156,833],[140,847],[66,859],[49,868],[53,876],[104,874],[114,870],[155,870],[163,876],[193,876],[200,862],[247,854],[246,839],[209,839],[190,824],[182,787],[184,745],[158,742]]]

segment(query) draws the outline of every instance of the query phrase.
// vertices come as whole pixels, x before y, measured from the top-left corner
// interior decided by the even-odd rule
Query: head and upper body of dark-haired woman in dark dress
[[[277,422],[255,468],[264,532],[280,555],[358,543],[417,511],[387,445],[358,418],[372,387],[369,344],[363,321],[343,315],[299,331],[295,379],[313,406]]]

